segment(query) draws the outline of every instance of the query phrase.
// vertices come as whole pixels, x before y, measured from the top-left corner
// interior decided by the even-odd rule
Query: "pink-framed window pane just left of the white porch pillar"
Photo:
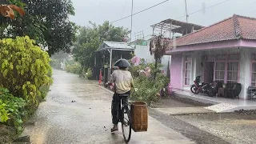
[[[238,62],[227,62],[226,82],[238,82]]]

